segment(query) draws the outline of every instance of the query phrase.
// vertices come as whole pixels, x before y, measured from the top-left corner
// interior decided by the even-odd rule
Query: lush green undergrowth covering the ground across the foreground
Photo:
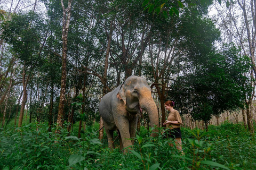
[[[98,124],[96,125],[98,127]],[[0,129],[0,169],[254,169],[255,137],[241,124],[209,126],[209,131],[182,128],[182,155],[171,139],[150,137],[141,127],[125,154],[101,142],[87,126],[82,138],[74,129],[55,134],[46,124]],[[98,129],[98,128],[97,128]],[[52,130],[54,132],[54,129]],[[117,135],[117,134],[116,134]],[[118,147],[118,140],[115,141]]]

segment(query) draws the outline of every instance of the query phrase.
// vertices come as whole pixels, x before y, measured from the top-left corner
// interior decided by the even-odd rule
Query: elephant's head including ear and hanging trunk
[[[131,114],[141,113],[142,109],[145,109],[151,127],[155,127],[155,125],[159,127],[157,107],[151,96],[151,88],[145,79],[137,76],[127,78],[117,97],[124,101],[126,110]],[[155,137],[156,133],[152,133],[151,136]]]

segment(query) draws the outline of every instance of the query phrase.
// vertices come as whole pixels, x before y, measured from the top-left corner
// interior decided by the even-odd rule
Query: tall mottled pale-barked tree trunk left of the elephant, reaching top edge
[[[68,1],[68,7],[65,8],[63,0],[61,0],[63,18],[62,18],[62,66],[61,66],[61,89],[60,89],[60,103],[57,118],[57,127],[63,128],[63,116],[66,94],[66,79],[67,79],[67,44],[68,44],[68,29],[71,16],[71,2]],[[56,132],[58,132],[58,128]]]

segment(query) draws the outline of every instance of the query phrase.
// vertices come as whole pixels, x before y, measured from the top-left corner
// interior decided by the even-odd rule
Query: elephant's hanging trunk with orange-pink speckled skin
[[[158,111],[156,107],[156,103],[153,100],[153,98],[150,95],[147,95],[146,97],[143,96],[142,100],[140,100],[140,107],[145,109],[145,111],[148,113],[150,125],[152,128],[155,128],[155,125],[157,128],[159,128],[159,118],[158,118]],[[153,133],[151,133],[151,137],[156,137],[158,130],[153,130]]]

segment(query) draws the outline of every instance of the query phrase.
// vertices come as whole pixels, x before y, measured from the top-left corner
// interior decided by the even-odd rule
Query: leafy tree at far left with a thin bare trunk
[[[28,81],[35,67],[38,66],[39,60],[41,60],[48,32],[41,17],[34,12],[13,15],[12,20],[5,21],[2,27],[4,32],[1,37],[6,43],[12,45],[15,57],[18,57],[23,65],[23,97],[18,123],[18,126],[21,126],[27,101]]]

